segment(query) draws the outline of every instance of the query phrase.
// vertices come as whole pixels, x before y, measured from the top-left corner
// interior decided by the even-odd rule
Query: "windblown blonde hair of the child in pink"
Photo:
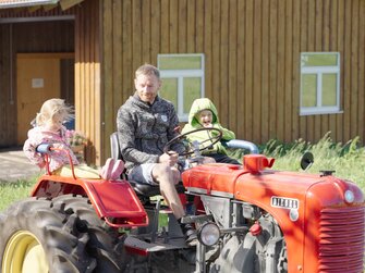
[[[44,102],[37,113],[36,124],[42,126],[48,121],[54,122],[56,116],[64,122],[71,121],[74,117],[73,108],[65,104],[63,99],[49,99]]]

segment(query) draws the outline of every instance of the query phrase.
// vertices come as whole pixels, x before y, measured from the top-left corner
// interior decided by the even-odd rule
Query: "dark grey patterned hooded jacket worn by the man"
[[[127,171],[142,163],[157,163],[166,144],[178,136],[179,119],[173,104],[156,97],[153,104],[143,102],[137,94],[118,110],[118,138]],[[182,144],[170,150],[184,151]]]

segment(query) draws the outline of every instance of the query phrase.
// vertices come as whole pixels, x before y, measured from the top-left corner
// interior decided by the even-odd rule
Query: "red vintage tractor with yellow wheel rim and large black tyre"
[[[115,135],[112,144],[118,157]],[[178,187],[196,247],[154,197],[157,187],[48,172],[0,214],[1,272],[363,272],[365,201],[355,184],[332,171],[275,171],[263,154],[244,156],[242,166],[200,164],[206,146],[187,147]],[[307,154],[302,165],[312,162]]]

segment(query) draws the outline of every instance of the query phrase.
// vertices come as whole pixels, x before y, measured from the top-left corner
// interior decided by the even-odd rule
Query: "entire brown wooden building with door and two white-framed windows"
[[[101,164],[146,62],[181,121],[208,97],[256,144],[363,140],[364,29],[365,0],[0,1],[0,147],[21,145],[42,100],[60,96]]]

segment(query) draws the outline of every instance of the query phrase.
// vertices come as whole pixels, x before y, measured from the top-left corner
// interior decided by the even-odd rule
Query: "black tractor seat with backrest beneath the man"
[[[119,148],[118,133],[117,132],[114,132],[110,135],[110,148],[111,148],[111,158],[112,159],[123,160],[122,153],[121,153],[120,148]],[[126,176],[126,173],[125,173],[125,170],[123,172],[123,176],[130,183],[130,185],[133,187],[133,189],[137,194],[137,196],[153,197],[153,196],[161,195],[159,186],[136,183],[134,181],[129,181],[127,176]],[[178,190],[178,194],[182,194],[182,193],[185,191],[185,188],[181,183],[179,183],[177,185],[177,190]]]

